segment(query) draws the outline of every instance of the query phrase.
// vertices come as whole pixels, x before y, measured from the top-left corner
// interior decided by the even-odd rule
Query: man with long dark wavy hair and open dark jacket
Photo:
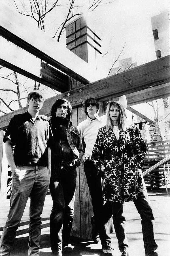
[[[72,125],[72,108],[66,99],[58,99],[51,108],[50,127],[54,145],[51,148],[52,175],[50,192],[53,200],[50,215],[50,241],[52,255],[61,256],[68,246],[73,223],[76,167],[84,154],[80,134]]]

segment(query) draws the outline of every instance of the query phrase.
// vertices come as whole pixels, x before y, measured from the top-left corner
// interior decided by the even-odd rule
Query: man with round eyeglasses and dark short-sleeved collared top
[[[1,256],[10,255],[29,197],[28,255],[39,255],[41,214],[51,176],[52,144],[49,123],[42,121],[39,115],[43,102],[40,91],[30,92],[27,96],[28,111],[12,117],[3,138],[12,172],[12,189],[8,219],[0,240]]]

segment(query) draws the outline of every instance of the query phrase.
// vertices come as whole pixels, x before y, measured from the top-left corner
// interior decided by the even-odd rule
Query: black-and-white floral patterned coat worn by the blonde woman
[[[147,150],[135,125],[119,131],[119,140],[112,130],[105,133],[105,127],[99,129],[92,161],[104,179],[104,200],[122,203],[147,195],[142,172],[138,170],[143,167]]]

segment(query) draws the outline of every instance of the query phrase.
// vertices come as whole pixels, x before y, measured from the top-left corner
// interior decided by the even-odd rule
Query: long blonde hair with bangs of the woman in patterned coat
[[[122,106],[122,104],[120,104],[117,101],[109,101],[109,102],[107,102],[107,109],[106,109],[107,121],[106,121],[105,133],[107,133],[110,129],[112,129],[111,118],[109,115],[109,110],[110,110],[111,106],[119,108],[120,115],[119,115],[119,120],[118,120],[118,127],[119,127],[120,131],[125,131],[126,124],[127,124],[127,116],[126,116],[124,107]]]

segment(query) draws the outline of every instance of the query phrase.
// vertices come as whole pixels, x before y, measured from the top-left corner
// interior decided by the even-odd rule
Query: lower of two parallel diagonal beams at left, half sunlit
[[[2,37],[0,38],[0,42],[1,65],[59,92],[65,92],[68,90],[67,75],[45,63],[43,64],[42,61],[34,55],[20,49],[14,44],[11,44]]]

